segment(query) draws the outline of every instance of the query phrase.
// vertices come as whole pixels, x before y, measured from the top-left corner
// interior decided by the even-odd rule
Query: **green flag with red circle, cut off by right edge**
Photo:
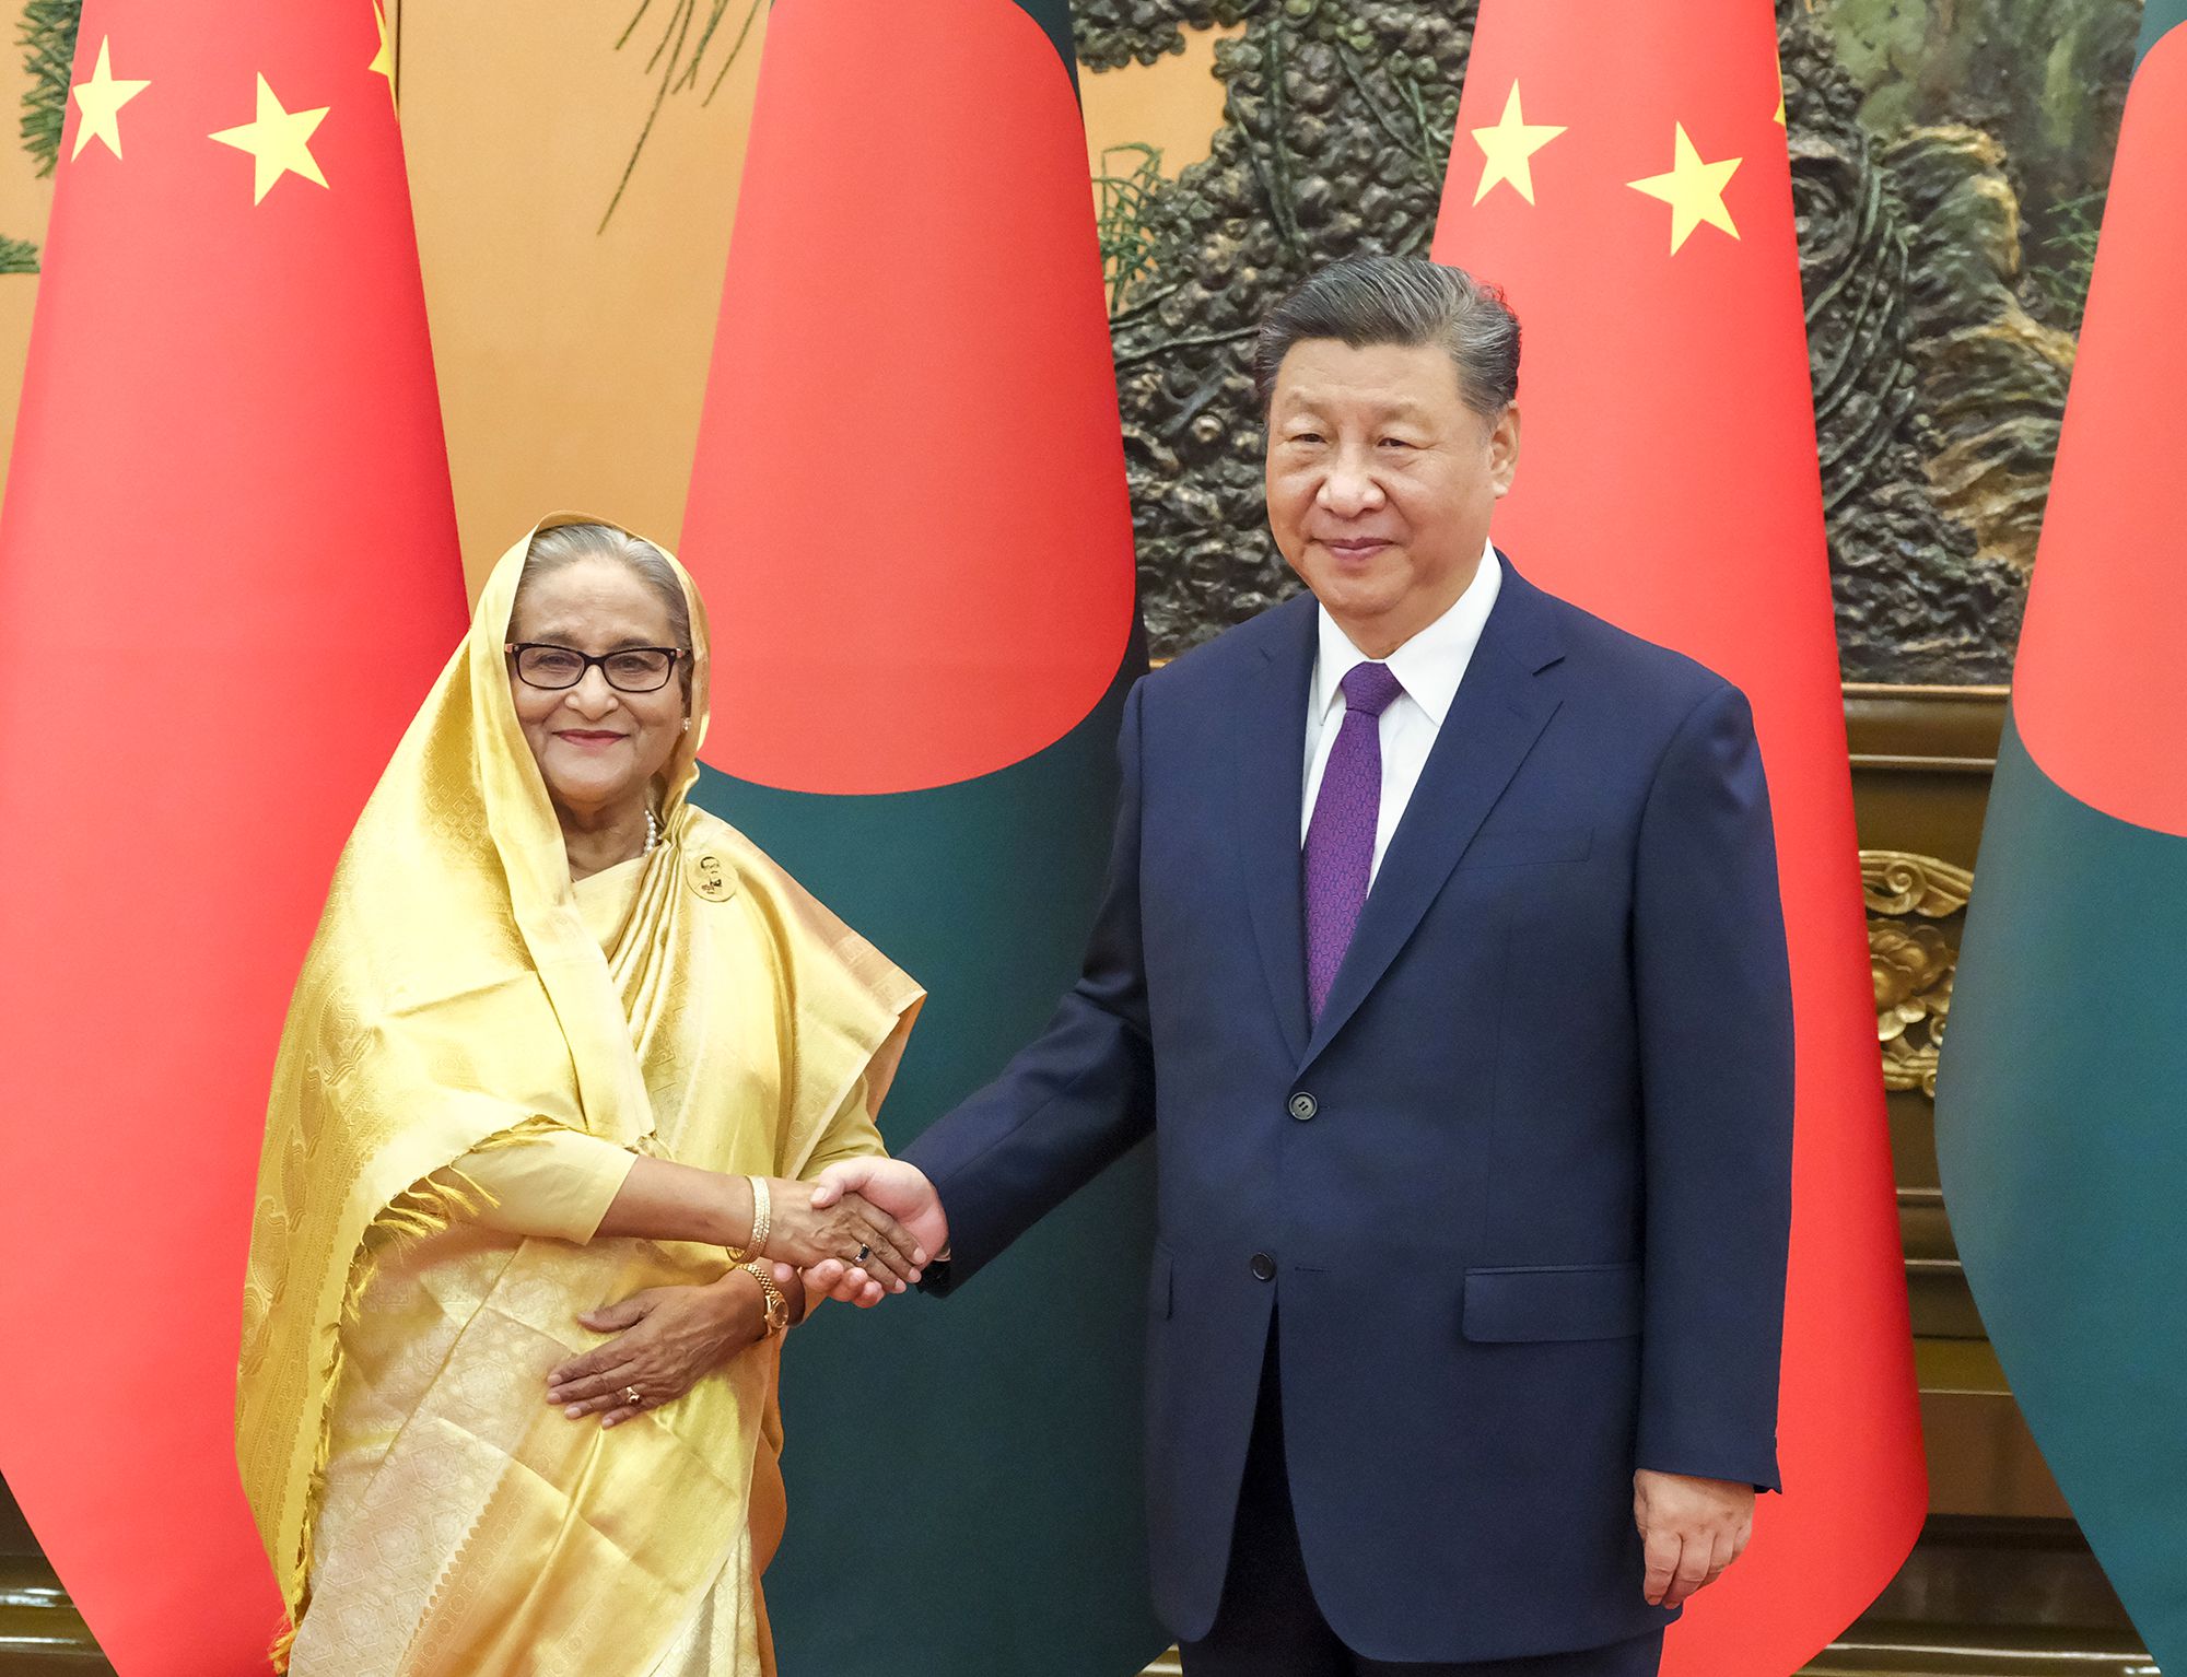
[[[2187,1670],[2187,0],[2150,0],[1938,1084],[2012,1391]]]

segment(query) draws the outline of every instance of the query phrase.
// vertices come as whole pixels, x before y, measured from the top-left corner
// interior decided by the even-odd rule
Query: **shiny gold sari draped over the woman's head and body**
[[[455,1165],[569,1128],[811,1176],[881,1150],[921,1001],[687,802],[709,673],[689,577],[693,715],[660,844],[571,886],[503,656],[527,547],[356,822],[273,1071],[236,1450],[297,1677],[770,1670],[779,1340],[612,1432],[569,1421],[545,1375],[599,1342],[577,1312],[726,1257],[494,1233]]]

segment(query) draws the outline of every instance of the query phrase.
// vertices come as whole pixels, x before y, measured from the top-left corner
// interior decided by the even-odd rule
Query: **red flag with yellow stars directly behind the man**
[[[1483,0],[1435,238],[1505,286],[1527,339],[1498,542],[1745,689],[1776,809],[1785,1493],[1673,1627],[1669,1677],[1798,1670],[1927,1509],[1782,109],[1767,0]]]

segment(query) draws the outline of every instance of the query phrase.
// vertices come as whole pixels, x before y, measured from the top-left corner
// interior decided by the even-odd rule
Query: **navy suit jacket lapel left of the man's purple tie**
[[[1238,861],[1268,997],[1293,1058],[1306,1052],[1306,896],[1299,861],[1306,796],[1306,684],[1314,601],[1279,606],[1279,634],[1247,671],[1238,704]]]

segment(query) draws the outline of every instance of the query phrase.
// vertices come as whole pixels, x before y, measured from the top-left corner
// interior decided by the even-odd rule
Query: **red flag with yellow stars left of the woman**
[[[252,1185],[335,855],[461,634],[370,0],[87,0],[0,516],[0,1471],[122,1677],[265,1670]]]

